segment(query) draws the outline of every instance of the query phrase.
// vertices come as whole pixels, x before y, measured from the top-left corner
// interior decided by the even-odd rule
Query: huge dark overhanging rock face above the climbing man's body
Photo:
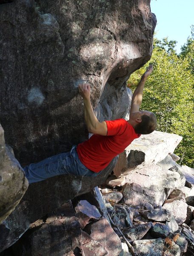
[[[22,165],[88,138],[77,90],[81,81],[91,84],[100,120],[126,116],[131,93],[125,82],[151,57],[156,18],[149,3],[0,5],[0,119]]]

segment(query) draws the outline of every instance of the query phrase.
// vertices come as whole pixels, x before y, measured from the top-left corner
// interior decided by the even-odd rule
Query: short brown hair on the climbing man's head
[[[154,113],[151,112],[149,116],[142,115],[141,122],[135,126],[135,132],[137,134],[150,134],[156,129],[157,120]]]

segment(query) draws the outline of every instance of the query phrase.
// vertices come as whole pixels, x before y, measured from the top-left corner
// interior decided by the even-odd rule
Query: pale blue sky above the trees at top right
[[[194,0],[151,0],[150,6],[157,17],[156,37],[177,41],[175,49],[180,53],[194,25]]]

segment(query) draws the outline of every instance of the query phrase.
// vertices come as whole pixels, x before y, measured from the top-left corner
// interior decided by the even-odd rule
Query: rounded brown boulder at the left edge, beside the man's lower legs
[[[5,144],[4,131],[0,125],[0,223],[19,204],[27,188],[28,180],[12,148]]]

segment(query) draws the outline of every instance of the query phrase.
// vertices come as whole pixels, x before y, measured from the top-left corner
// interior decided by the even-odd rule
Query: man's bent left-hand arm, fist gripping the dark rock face
[[[106,122],[99,122],[94,114],[93,108],[90,101],[90,85],[89,84],[79,84],[79,93],[83,97],[84,103],[84,118],[88,132],[99,135],[107,135],[107,125]]]

